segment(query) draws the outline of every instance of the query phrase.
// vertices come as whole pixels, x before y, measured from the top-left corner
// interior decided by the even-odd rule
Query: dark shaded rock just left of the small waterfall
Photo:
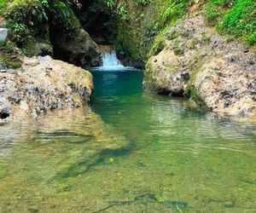
[[[100,50],[84,29],[80,29],[73,39],[56,39],[53,43],[55,58],[85,67],[102,64]]]

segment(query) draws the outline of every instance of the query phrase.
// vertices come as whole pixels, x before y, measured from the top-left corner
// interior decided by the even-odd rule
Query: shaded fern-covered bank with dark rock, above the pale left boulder
[[[53,55],[79,66],[90,66],[91,61],[99,65],[99,49],[74,8],[79,8],[77,1],[1,0],[4,21],[0,24],[11,30],[11,41],[25,55]]]

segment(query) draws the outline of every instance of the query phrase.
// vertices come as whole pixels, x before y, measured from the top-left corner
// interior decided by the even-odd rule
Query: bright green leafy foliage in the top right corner
[[[248,44],[256,44],[256,2],[254,0],[208,0],[208,23]]]

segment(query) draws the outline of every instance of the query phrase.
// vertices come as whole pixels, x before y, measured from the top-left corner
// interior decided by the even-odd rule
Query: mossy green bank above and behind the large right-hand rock
[[[162,35],[183,16],[204,14],[230,40],[256,45],[256,3],[253,0],[119,0],[119,32],[116,46],[144,65],[164,47]],[[172,35],[175,36],[175,35]]]

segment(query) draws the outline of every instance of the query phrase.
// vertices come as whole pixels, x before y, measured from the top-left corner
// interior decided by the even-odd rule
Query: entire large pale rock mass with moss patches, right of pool
[[[256,56],[219,36],[202,16],[187,18],[164,36],[164,49],[148,60],[144,87],[188,95],[225,115],[256,114]]]

